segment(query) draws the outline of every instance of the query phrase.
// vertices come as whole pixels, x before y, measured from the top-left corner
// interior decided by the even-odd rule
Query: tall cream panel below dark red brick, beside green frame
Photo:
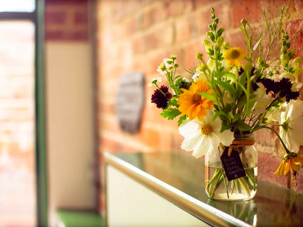
[[[93,108],[89,43],[45,46],[49,226],[58,207],[93,208]]]

